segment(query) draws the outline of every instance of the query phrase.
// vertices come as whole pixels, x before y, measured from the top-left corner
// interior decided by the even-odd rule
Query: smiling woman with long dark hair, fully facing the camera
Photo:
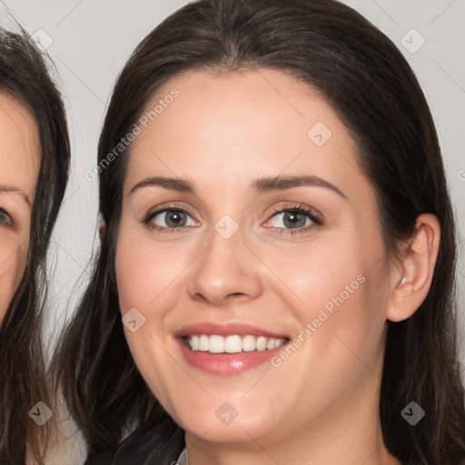
[[[184,6],[120,74],[94,173],[55,361],[88,465],[465,463],[440,147],[361,15]]]

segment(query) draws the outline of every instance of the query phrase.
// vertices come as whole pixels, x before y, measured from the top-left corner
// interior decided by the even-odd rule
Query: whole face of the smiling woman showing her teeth
[[[203,440],[264,448],[340,434],[322,429],[334,422],[371,426],[391,283],[341,120],[267,69],[176,77],[150,111],[134,132],[116,272],[153,393]]]

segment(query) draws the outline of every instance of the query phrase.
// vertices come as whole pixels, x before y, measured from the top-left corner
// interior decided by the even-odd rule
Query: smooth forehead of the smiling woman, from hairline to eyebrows
[[[361,182],[355,143],[337,114],[311,86],[281,71],[183,74],[143,115],[126,191],[154,172],[229,192],[280,173],[312,173],[349,190]]]

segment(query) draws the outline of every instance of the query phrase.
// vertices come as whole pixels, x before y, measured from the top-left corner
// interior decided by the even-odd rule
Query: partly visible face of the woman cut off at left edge
[[[39,151],[31,114],[0,94],[0,322],[25,271]]]

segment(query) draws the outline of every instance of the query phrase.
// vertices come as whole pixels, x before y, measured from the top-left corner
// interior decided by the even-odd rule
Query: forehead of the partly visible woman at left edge
[[[0,92],[0,185],[15,186],[32,197],[39,151],[33,116],[11,95]]]

